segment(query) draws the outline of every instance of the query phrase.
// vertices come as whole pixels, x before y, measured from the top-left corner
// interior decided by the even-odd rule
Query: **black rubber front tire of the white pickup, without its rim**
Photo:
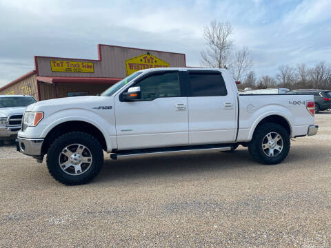
[[[62,150],[71,144],[81,144],[89,149],[92,163],[86,169],[86,172],[79,175],[70,175],[63,172],[59,164],[59,156]],[[77,147],[78,149],[78,147]],[[47,154],[47,167],[50,174],[65,185],[81,185],[89,183],[97,174],[99,174],[103,165],[103,149],[96,138],[84,132],[69,132],[57,138],[50,145]],[[81,170],[82,172],[82,170]]]

